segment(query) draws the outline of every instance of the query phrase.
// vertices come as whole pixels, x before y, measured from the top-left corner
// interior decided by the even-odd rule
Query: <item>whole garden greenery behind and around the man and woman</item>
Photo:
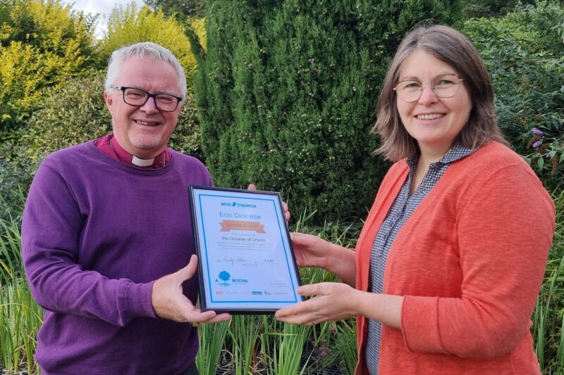
[[[145,0],[97,15],[61,0],[0,0],[0,369],[37,373],[42,309],[20,259],[27,189],[41,160],[110,131],[109,54],[149,40],[178,56],[190,87],[170,146],[218,186],[281,191],[290,229],[353,247],[388,163],[372,155],[376,98],[415,25],[442,23],[476,44],[498,122],[557,207],[532,317],[544,374],[564,374],[564,4],[558,0]],[[503,194],[503,191],[499,192]],[[305,282],[332,280],[302,269]],[[352,374],[355,322],[290,326],[236,316],[200,326],[200,372]]]

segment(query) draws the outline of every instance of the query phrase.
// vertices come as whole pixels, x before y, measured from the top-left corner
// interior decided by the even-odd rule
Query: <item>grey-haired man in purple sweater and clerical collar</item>
[[[192,323],[229,318],[195,308],[188,186],[212,179],[166,148],[185,94],[167,49],[115,51],[104,93],[114,134],[57,151],[37,170],[22,248],[45,309],[42,374],[197,374]]]

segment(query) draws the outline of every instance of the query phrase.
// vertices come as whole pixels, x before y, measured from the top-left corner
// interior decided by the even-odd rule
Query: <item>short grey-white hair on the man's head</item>
[[[116,49],[116,51],[111,53],[108,61],[108,71],[106,72],[106,82],[104,84],[106,91],[109,91],[111,89],[110,86],[116,83],[121,64],[130,57],[149,57],[152,58],[153,61],[164,61],[170,64],[178,76],[180,96],[183,98],[186,97],[186,76],[184,75],[184,69],[178,62],[178,58],[176,58],[171,51],[168,51],[168,49],[152,42],[131,44],[130,46]]]

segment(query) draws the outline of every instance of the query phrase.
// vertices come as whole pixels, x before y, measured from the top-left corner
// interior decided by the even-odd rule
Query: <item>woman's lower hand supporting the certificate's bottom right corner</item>
[[[362,292],[342,283],[321,283],[300,286],[300,295],[316,295],[305,302],[278,310],[276,319],[290,324],[314,325],[334,322],[359,314],[357,307]]]

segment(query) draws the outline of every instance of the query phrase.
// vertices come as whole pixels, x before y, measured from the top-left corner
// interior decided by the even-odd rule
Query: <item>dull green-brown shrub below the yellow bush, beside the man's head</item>
[[[27,191],[39,163],[49,153],[102,136],[110,129],[104,105],[102,75],[69,80],[51,89],[27,122],[2,136],[0,195],[14,201],[18,186]]]

